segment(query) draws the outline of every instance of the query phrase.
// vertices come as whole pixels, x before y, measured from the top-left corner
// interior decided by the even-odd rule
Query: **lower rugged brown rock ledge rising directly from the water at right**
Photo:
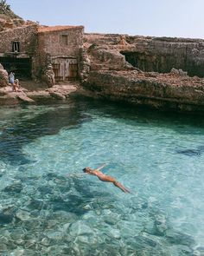
[[[139,71],[91,71],[83,83],[88,95],[153,108],[204,111],[204,79]]]

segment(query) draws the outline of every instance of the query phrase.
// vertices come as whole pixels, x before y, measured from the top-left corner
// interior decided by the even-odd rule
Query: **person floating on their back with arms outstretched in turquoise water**
[[[97,176],[100,181],[112,182],[112,184],[114,186],[119,187],[124,193],[130,193],[130,191],[127,188],[125,188],[122,184],[120,184],[118,181],[116,181],[115,178],[113,178],[112,176],[109,176],[109,175],[105,175],[102,172],[100,172],[100,170],[103,167],[105,167],[105,165],[103,165],[102,167],[99,167],[97,169],[93,169],[93,170],[90,167],[85,167],[85,168],[83,168],[83,172],[86,174]]]

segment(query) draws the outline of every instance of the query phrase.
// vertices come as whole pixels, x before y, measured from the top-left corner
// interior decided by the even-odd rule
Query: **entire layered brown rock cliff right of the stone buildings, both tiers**
[[[154,108],[204,110],[204,40],[86,34],[86,93]]]

